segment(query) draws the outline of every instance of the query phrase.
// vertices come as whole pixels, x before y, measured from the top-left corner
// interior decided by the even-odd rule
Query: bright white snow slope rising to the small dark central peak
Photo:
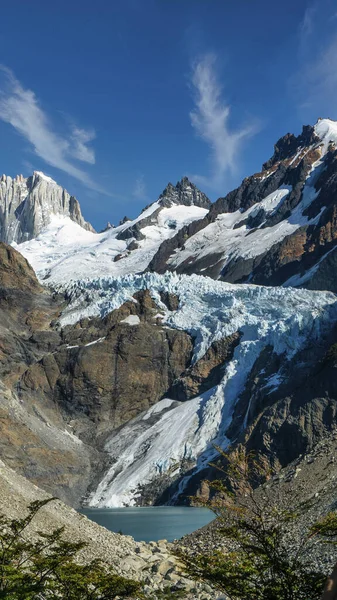
[[[169,184],[159,199],[132,221],[100,234],[85,231],[67,217],[53,216],[35,239],[20,244],[39,278],[49,283],[144,271],[164,240],[203,218],[208,198],[187,178]]]

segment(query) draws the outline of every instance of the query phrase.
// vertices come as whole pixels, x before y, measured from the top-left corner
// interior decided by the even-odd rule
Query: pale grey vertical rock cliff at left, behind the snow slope
[[[35,171],[25,179],[0,178],[0,239],[21,243],[36,237],[54,215],[70,217],[93,231],[81,214],[78,201],[50,177]]]

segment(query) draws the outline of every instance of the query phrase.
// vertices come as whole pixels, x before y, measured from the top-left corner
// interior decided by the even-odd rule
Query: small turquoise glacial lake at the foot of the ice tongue
[[[80,512],[110,531],[132,535],[137,542],[172,542],[214,519],[207,508],[188,506],[83,508]]]

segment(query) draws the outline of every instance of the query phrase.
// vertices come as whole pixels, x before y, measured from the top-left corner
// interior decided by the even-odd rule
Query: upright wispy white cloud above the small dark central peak
[[[198,136],[210,146],[210,176],[194,175],[194,179],[213,188],[219,188],[227,173],[235,172],[244,142],[257,133],[257,123],[230,129],[230,106],[222,98],[222,88],[215,70],[216,57],[207,54],[195,62],[191,82],[195,107],[190,113],[191,123]]]

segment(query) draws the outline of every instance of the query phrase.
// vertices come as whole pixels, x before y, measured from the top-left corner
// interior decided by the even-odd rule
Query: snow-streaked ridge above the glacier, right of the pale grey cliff
[[[149,270],[335,291],[336,145],[337,123],[321,119],[297,137],[286,134],[260,173],[213,204],[184,177],[136,219],[100,234],[88,235],[82,217],[69,221],[60,209],[42,219],[42,231],[28,227],[41,233],[20,251],[50,284]],[[6,223],[4,241],[14,235]]]

